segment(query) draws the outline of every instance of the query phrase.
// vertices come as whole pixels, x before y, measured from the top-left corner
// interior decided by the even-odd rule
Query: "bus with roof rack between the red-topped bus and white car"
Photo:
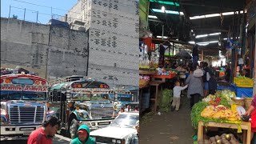
[[[114,120],[114,105],[106,83],[83,76],[70,76],[51,83],[50,110],[62,120],[62,129],[70,138],[76,137],[80,124],[97,130]]]

